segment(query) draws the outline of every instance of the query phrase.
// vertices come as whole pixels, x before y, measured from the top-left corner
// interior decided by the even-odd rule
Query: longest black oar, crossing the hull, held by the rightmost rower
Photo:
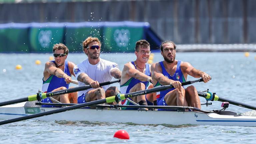
[[[183,82],[181,84],[182,84],[182,86],[184,86],[184,85],[189,85],[189,84],[192,84],[195,82],[201,82],[201,81],[203,81],[203,79],[187,81],[187,82]],[[37,118],[37,117],[46,116],[46,115],[51,115],[51,114],[55,114],[55,113],[65,112],[65,111],[69,111],[69,110],[79,109],[79,108],[86,107],[86,106],[92,106],[92,105],[103,104],[103,103],[112,103],[114,101],[124,100],[128,97],[145,95],[148,93],[163,91],[163,90],[170,89],[170,88],[173,88],[173,86],[165,85],[165,86],[155,87],[155,88],[141,90],[141,91],[137,91],[137,92],[120,94],[120,95],[116,95],[116,96],[107,97],[107,98],[101,99],[101,100],[91,101],[91,102],[77,104],[77,105],[68,106],[68,107],[64,107],[64,108],[58,108],[55,110],[50,110],[50,111],[46,111],[46,112],[42,112],[42,113],[37,113],[37,114],[27,115],[27,116],[23,116],[23,117],[14,118],[14,119],[0,121],[0,125],[17,122],[17,121],[22,121],[22,120],[27,120],[27,119],[32,119],[32,118]]]

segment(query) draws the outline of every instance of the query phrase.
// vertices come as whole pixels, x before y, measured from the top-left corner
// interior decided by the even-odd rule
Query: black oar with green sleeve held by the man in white
[[[109,85],[109,84],[117,83],[117,82],[120,82],[120,80],[103,82],[103,83],[100,83],[100,86]],[[25,98],[0,102],[0,106],[5,106],[5,105],[10,105],[10,104],[15,104],[15,103],[21,103],[21,102],[26,102],[26,101],[40,100],[40,99],[44,99],[44,98],[49,97],[49,96],[55,96],[55,95],[59,95],[59,94],[67,94],[67,93],[87,90],[87,89],[90,89],[90,88],[92,88],[90,85],[85,85],[85,86],[74,87],[74,88],[69,88],[69,89],[65,89],[65,90],[42,93],[41,96],[40,96],[40,94],[36,94],[36,95],[31,95],[31,96],[28,96],[28,97],[25,97]]]

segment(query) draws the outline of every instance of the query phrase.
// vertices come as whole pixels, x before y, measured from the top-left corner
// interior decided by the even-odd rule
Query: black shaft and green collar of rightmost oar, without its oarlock
[[[203,93],[203,92],[197,92],[199,96],[206,98],[207,97],[207,93]],[[226,98],[221,98],[218,96],[217,101],[221,101],[221,102],[229,102],[232,105],[236,105],[236,106],[240,106],[240,107],[244,107],[244,108],[248,108],[248,109],[252,109],[252,110],[256,110],[255,106],[252,105],[248,105],[248,104],[244,104],[241,102],[237,102],[237,101],[233,101],[233,100],[229,100]]]

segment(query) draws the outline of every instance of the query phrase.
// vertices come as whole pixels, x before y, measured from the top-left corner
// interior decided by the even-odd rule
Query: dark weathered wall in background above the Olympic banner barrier
[[[0,23],[144,21],[177,44],[256,43],[255,0],[0,4]]]

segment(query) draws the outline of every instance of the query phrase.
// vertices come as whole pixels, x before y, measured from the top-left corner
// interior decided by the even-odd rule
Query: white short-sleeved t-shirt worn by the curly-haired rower
[[[112,76],[110,72],[113,69],[119,69],[118,65],[114,62],[110,62],[104,59],[100,58],[100,62],[92,65],[90,64],[89,60],[86,59],[82,63],[76,65],[74,67],[74,74],[77,77],[81,73],[86,73],[91,79],[98,81],[99,83],[111,81]],[[85,83],[78,81],[78,86],[84,86]],[[102,86],[102,88],[106,91],[108,89],[109,85]],[[78,96],[81,96],[83,93],[88,92],[91,89],[83,90],[78,92]]]

